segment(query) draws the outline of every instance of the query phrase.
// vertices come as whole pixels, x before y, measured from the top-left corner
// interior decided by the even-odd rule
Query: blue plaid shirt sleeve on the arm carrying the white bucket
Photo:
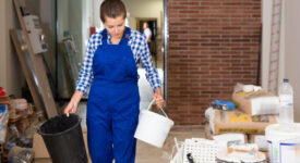
[[[142,66],[146,71],[146,78],[149,82],[153,91],[155,91],[156,88],[161,88],[157,70],[152,62],[152,57],[145,37],[142,34],[137,35],[136,37],[135,46],[140,46],[137,54],[140,54]]]

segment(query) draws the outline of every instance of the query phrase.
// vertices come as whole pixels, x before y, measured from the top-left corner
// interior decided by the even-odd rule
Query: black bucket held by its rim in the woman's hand
[[[87,163],[79,115],[58,115],[40,125],[41,135],[53,163]]]

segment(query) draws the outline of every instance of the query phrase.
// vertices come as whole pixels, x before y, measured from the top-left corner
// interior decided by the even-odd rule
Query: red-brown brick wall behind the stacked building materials
[[[168,112],[176,125],[200,125],[236,83],[255,84],[260,0],[168,0]]]

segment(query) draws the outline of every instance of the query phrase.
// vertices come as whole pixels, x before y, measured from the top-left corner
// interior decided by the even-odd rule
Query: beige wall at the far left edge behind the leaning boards
[[[9,35],[9,29],[16,28],[16,21],[12,0],[0,0],[0,87],[8,95],[21,97],[25,82]]]

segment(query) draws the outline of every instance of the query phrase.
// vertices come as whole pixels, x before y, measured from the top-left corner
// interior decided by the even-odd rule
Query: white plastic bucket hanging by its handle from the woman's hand
[[[163,109],[160,109],[160,111],[163,111],[165,116],[151,112],[149,109],[153,103],[154,100],[149,103],[147,110],[141,111],[134,137],[139,140],[161,148],[170,128],[173,126],[173,122],[168,118]]]

